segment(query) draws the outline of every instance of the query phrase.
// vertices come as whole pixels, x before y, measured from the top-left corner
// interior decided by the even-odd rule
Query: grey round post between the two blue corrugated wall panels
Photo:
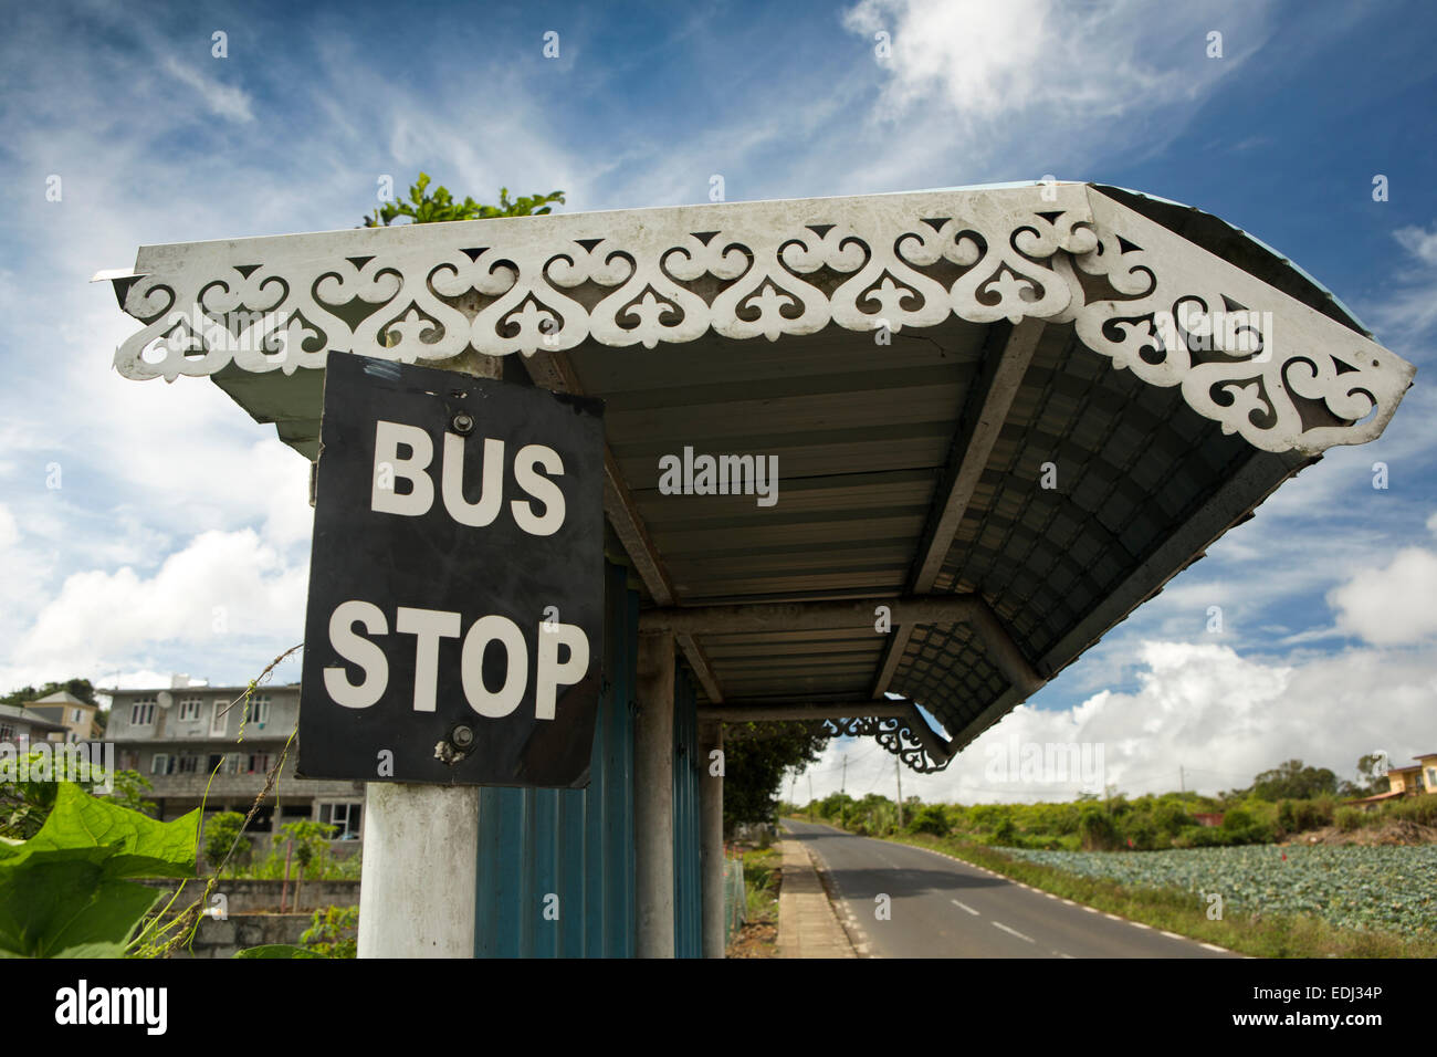
[[[634,720],[635,953],[674,956],[674,634],[638,637]]]

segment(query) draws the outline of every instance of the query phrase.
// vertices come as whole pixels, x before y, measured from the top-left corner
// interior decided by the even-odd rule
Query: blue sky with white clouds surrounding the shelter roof
[[[421,170],[480,200],[502,184],[563,188],[570,211],[706,201],[714,174],[729,200],[1052,174],[1252,232],[1415,362],[1417,385],[1380,441],[1331,450],[917,791],[1048,791],[984,779],[986,745],[1007,738],[1101,739],[1108,781],[1129,791],[1173,785],[1180,765],[1216,790],[1289,756],[1346,774],[1372,749],[1437,749],[1430,4],[394,12],[197,3],[135,17],[62,3],[9,16],[0,683],[233,683],[300,637],[303,460],[208,383],[126,383],[109,367],[134,324],[88,279],[142,243],[355,226],[382,177],[402,190]],[[1221,58],[1207,55],[1213,32]],[[1378,174],[1387,201],[1372,197]],[[891,775],[882,754],[842,742],[816,792],[836,788],[844,752],[858,791]]]

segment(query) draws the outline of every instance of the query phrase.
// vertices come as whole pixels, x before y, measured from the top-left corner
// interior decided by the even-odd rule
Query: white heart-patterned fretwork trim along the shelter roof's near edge
[[[1083,184],[142,247],[115,282],[145,324],[115,352],[137,380],[1038,318],[1259,449],[1315,453],[1378,436],[1414,370]]]

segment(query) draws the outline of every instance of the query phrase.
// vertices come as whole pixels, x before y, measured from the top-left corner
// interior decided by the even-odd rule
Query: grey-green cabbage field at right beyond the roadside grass
[[[1437,844],[1004,851],[1134,887],[1216,892],[1224,918],[1311,913],[1341,928],[1437,935]]]

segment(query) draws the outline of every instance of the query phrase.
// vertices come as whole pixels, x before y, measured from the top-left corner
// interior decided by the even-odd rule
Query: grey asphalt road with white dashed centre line
[[[879,958],[1234,958],[907,844],[786,821],[828,871],[859,953]],[[879,894],[890,918],[878,918]],[[867,949],[864,949],[867,948]]]

